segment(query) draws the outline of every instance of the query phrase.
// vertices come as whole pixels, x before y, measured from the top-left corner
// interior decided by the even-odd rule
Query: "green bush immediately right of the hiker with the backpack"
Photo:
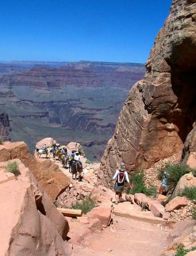
[[[144,193],[147,196],[156,196],[157,187],[146,187],[143,171],[130,175],[130,183],[132,184],[132,189],[127,189],[128,194]]]

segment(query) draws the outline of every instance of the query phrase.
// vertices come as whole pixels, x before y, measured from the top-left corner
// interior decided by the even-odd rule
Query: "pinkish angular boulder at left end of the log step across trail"
[[[87,217],[93,219],[93,218],[98,218],[101,221],[102,225],[109,225],[110,219],[111,219],[111,207],[96,207],[90,212],[86,214]]]

